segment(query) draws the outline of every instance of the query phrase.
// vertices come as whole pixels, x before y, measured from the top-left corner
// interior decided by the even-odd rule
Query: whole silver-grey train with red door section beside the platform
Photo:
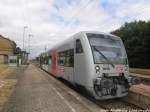
[[[122,40],[93,31],[79,32],[41,55],[41,67],[74,85],[85,87],[96,99],[128,94],[139,80],[129,76]]]

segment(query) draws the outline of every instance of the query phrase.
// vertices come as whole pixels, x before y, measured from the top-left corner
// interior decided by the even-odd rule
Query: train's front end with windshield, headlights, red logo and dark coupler
[[[120,98],[140,80],[129,76],[126,51],[119,37],[87,33],[94,61],[93,94],[96,99]]]

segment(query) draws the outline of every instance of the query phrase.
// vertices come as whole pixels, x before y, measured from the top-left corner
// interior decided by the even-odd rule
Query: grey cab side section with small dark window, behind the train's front
[[[85,67],[84,67],[84,51],[81,40],[75,40],[75,56],[74,56],[74,82],[76,84],[85,84]]]

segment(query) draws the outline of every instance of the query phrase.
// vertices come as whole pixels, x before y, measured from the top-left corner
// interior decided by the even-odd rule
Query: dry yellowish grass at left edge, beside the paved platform
[[[0,65],[2,71],[7,69],[6,72],[0,74],[0,111],[3,106],[8,102],[10,95],[12,94],[15,85],[17,83],[16,67],[8,67],[7,65]],[[3,68],[3,69],[2,69]]]

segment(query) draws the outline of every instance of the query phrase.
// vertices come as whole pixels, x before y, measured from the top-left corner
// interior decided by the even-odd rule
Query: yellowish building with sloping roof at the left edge
[[[0,63],[8,63],[8,57],[14,55],[16,43],[0,35]]]

